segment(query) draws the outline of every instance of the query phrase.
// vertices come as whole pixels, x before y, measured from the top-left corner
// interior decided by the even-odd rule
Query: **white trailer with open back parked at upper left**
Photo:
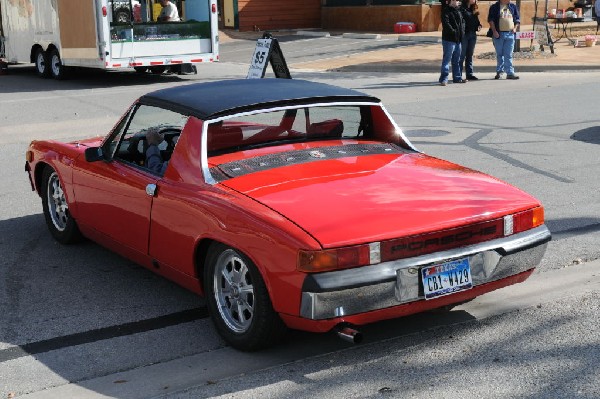
[[[158,22],[158,0],[0,0],[0,62],[62,79],[71,67],[189,72],[218,61],[217,0],[171,1],[181,21]]]

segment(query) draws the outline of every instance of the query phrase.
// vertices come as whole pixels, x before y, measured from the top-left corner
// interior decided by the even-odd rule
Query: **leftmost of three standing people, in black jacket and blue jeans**
[[[459,9],[460,2],[448,0],[448,4],[442,3],[442,68],[440,73],[440,85],[448,84],[450,63],[452,63],[452,81],[454,83],[466,83],[462,78],[460,69],[460,43],[465,34],[465,21]]]

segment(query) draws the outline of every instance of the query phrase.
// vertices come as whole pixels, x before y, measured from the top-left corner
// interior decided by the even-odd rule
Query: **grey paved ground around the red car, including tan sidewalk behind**
[[[598,47],[561,40],[556,57],[541,66],[523,60],[517,82],[494,81],[493,59],[478,59],[482,81],[442,88],[435,83],[439,32],[410,40],[342,33],[282,32],[294,78],[376,95],[418,148],[540,198],[554,237],[536,274],[452,312],[365,326],[365,343],[355,347],[332,334],[292,332],[286,345],[244,354],[226,347],[201,317],[148,330],[201,302],[95,244],[52,241],[23,172],[26,144],[105,134],[149,90],[243,77],[260,33],[222,40],[223,62],[192,76],[82,73],[57,82],[18,67],[0,78],[0,397],[600,397],[600,174],[593,172],[600,73],[574,73],[597,67],[598,59],[590,60]],[[240,48],[239,61],[225,59],[229,46]],[[310,49],[301,51],[307,46],[316,50],[311,57],[304,56]],[[476,54],[489,51],[491,42],[481,38]],[[557,63],[569,61],[569,51],[585,57]],[[384,67],[389,73],[376,73]],[[403,73],[409,67],[419,73]],[[364,73],[345,73],[352,68]],[[490,112],[497,103],[510,103],[510,118]],[[457,104],[468,113],[456,112]],[[135,334],[119,333],[132,324]],[[107,331],[116,336],[107,339]]]

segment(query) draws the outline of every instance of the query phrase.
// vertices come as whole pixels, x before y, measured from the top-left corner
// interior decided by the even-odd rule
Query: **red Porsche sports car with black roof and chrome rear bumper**
[[[26,158],[58,241],[204,295],[243,350],[524,281],[551,238],[538,200],[419,152],[379,99],[301,80],[158,90],[104,139]]]

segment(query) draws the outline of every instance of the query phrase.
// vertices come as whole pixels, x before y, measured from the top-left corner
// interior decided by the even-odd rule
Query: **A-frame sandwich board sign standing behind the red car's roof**
[[[270,33],[265,33],[261,39],[256,41],[256,47],[250,60],[250,69],[248,70],[246,79],[264,78],[269,64],[271,64],[276,78],[292,78],[279,42]]]

